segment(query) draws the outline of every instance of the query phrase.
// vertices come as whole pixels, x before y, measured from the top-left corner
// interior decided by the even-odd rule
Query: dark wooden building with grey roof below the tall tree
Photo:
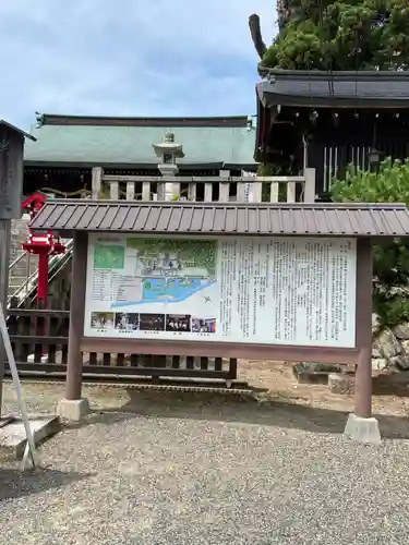
[[[256,86],[255,159],[316,169],[316,193],[350,164],[409,156],[409,74],[267,70]]]

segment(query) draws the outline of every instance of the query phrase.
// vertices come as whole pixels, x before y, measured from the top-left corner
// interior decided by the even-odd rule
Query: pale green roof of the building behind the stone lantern
[[[205,126],[206,119],[212,120],[199,119],[200,126],[189,118],[183,126],[178,119],[172,126],[172,118],[160,122],[130,118],[127,124],[128,120],[113,118],[44,116],[44,124],[32,133],[37,142],[26,143],[24,158],[28,165],[157,165],[152,145],[171,131],[176,143],[183,145],[181,165],[254,164],[255,128],[246,124],[245,117],[216,119]]]

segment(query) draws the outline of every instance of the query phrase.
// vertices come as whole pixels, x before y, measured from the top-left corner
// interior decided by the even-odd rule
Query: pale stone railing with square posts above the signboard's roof
[[[140,177],[106,175],[101,168],[93,169],[93,199],[165,201],[171,185],[171,198],[177,201],[313,203],[315,199],[315,169],[305,169],[298,177]]]

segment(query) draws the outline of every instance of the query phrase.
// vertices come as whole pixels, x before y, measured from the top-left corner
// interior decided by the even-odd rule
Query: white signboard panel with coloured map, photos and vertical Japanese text
[[[84,335],[354,346],[356,243],[91,235]]]

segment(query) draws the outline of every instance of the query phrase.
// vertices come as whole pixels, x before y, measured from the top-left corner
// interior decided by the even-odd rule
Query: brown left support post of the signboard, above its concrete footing
[[[82,391],[83,361],[80,351],[80,341],[84,335],[87,252],[88,234],[76,231],[74,233],[71,274],[71,307],[65,385],[65,399],[68,400],[80,400]]]

